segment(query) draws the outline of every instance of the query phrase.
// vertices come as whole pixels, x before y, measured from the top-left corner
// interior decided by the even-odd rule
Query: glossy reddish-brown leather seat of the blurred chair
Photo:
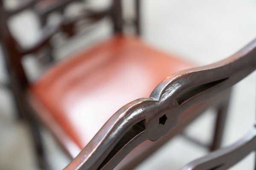
[[[192,66],[136,37],[116,35],[59,62],[29,92],[82,149],[119,108]]]

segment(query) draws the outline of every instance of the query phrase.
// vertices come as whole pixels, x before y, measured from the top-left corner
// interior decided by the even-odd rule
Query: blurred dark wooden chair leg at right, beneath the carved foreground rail
[[[227,119],[227,112],[230,103],[231,89],[227,91],[227,98],[224,102],[221,102],[217,107],[217,116],[215,119],[215,129],[213,132],[212,144],[209,146],[209,150],[213,151],[221,146],[224,126]]]

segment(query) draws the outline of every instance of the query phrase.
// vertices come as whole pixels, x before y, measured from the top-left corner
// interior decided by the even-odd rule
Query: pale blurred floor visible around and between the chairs
[[[163,51],[183,56],[200,65],[209,64],[235,53],[256,37],[255,9],[255,0],[144,0],[142,38]],[[36,32],[38,27],[29,27],[33,23],[31,20],[36,19],[31,11],[26,11],[10,23],[18,40],[26,40],[25,46],[37,38],[32,32]],[[102,26],[97,31],[100,34],[87,35],[86,41],[79,36],[71,40],[71,46],[62,43],[61,51],[57,50],[56,55],[65,57],[89,42],[106,36],[109,29]],[[6,79],[2,59],[0,57],[0,79]],[[29,69],[35,72],[38,70],[37,66],[30,66],[33,62],[31,58],[28,57],[25,62]],[[256,110],[255,76],[255,73],[251,74],[234,87],[223,146],[232,144],[253,127]],[[187,131],[208,141],[211,131],[209,125],[214,117],[211,112],[201,116]],[[50,163],[56,170],[64,168],[69,159],[52,136],[46,130],[42,131]],[[31,146],[28,128],[24,122],[15,118],[9,92],[0,89],[0,170],[38,169]],[[136,170],[175,170],[206,153],[206,150],[177,136]],[[253,161],[253,154],[250,154],[231,170],[252,170]]]

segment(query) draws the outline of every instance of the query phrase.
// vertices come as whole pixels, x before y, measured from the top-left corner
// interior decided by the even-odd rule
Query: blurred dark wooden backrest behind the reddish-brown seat
[[[70,0],[67,0],[70,1]],[[136,1],[136,18],[134,19],[133,23],[136,27],[136,32],[140,32],[140,25],[139,25],[139,0]],[[2,2],[2,1],[1,1]],[[87,9],[82,12],[79,16],[73,18],[66,18],[63,17],[61,22],[53,25],[53,26],[43,26],[43,35],[38,42],[35,43],[29,49],[22,49],[15,38],[12,36],[9,28],[8,28],[8,20],[12,16],[20,13],[20,11],[26,10],[27,8],[34,8],[38,5],[38,0],[29,0],[26,3],[23,3],[17,9],[6,10],[0,5],[0,42],[3,47],[3,53],[7,65],[7,70],[10,74],[11,83],[15,82],[18,83],[18,87],[26,88],[28,84],[28,79],[25,74],[23,65],[21,60],[24,55],[26,54],[35,54],[36,52],[40,51],[42,48],[49,46],[50,39],[54,34],[59,31],[63,31],[69,35],[74,34],[74,25],[79,22],[80,20],[89,20],[91,24],[95,23],[96,21],[101,20],[103,17],[110,17],[113,21],[113,32],[119,33],[123,31],[123,17],[122,17],[122,4],[121,0],[112,0],[111,6],[105,8],[101,11],[95,11],[92,9]],[[65,1],[66,2],[66,1]],[[63,3],[63,2],[62,2]],[[60,4],[59,6],[61,6]],[[49,8],[45,11],[45,13],[49,14],[49,12],[53,12],[54,10],[59,10],[59,6],[54,6],[54,8]]]

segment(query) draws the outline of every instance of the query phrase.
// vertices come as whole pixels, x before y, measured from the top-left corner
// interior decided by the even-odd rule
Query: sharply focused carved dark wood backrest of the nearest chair
[[[166,135],[186,109],[230,88],[255,69],[256,40],[220,62],[172,74],[149,98],[120,108],[65,170],[113,169],[138,144]],[[194,161],[183,170],[227,169],[255,149],[255,135],[253,127],[238,143]]]

